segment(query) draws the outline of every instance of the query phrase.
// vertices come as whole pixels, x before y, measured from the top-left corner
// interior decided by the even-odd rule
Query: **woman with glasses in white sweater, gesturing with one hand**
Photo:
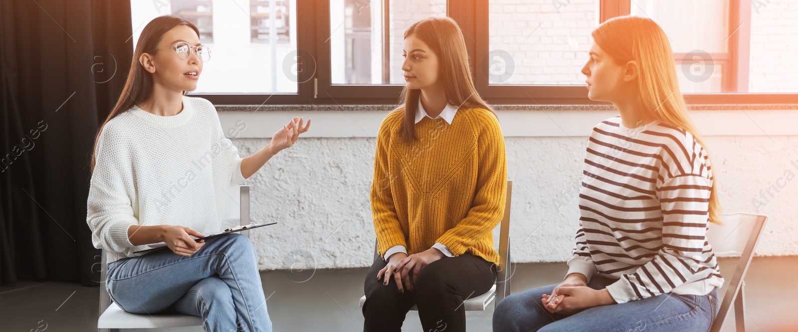
[[[310,127],[294,118],[240,158],[196,89],[211,50],[196,26],[160,16],[141,32],[117,105],[92,156],[87,223],[108,260],[106,287],[123,310],[203,318],[207,331],[271,331],[255,247],[219,231],[225,188],[252,176]],[[136,253],[165,242],[169,250]],[[205,247],[207,246],[207,247]]]

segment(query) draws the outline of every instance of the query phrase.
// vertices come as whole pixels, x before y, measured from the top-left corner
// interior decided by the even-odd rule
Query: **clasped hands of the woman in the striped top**
[[[575,314],[594,306],[614,304],[610,291],[594,290],[587,287],[587,278],[579,273],[571,273],[563,283],[551,291],[551,295],[543,294],[540,299],[543,309],[551,314]]]

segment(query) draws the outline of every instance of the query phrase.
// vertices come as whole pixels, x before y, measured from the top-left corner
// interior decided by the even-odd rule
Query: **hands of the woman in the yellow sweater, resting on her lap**
[[[435,248],[429,248],[413,255],[397,252],[388,258],[388,264],[377,273],[377,280],[383,280],[382,284],[388,286],[389,280],[393,277],[399,293],[404,294],[405,290],[413,291],[413,283],[418,272],[430,263],[444,257],[444,253]]]

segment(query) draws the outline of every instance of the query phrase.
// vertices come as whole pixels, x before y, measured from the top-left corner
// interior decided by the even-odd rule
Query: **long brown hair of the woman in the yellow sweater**
[[[471,68],[468,65],[468,53],[465,49],[465,40],[460,26],[452,18],[425,18],[413,23],[405,30],[405,38],[414,36],[432,49],[440,57],[439,76],[444,83],[446,101],[455,106],[468,108],[479,107],[493,112],[488,103],[476,93]],[[405,142],[416,140],[416,112],[421,89],[408,89],[407,85],[401,91],[400,105],[397,110],[405,110],[405,119],[402,121],[399,132]]]

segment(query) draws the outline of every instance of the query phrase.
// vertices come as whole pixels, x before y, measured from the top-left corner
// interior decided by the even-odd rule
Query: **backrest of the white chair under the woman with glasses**
[[[230,186],[225,190],[225,203],[223,219],[240,219],[241,225],[250,223],[250,186]],[[241,234],[249,236],[249,230],[241,231]],[[111,305],[111,297],[105,289],[105,276],[108,272],[108,260],[105,257],[105,249],[101,250],[101,270],[100,270],[100,314]]]

